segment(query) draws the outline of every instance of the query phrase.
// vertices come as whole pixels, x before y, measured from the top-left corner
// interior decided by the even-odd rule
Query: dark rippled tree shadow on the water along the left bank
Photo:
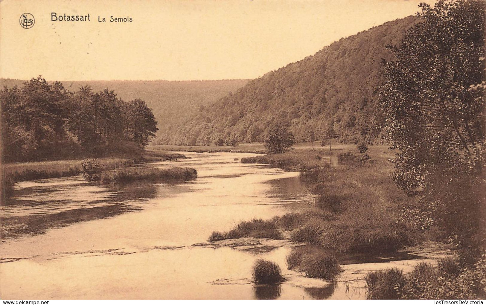
[[[71,185],[73,186],[73,185]],[[74,185],[83,187],[87,184]],[[28,194],[27,199],[11,198],[2,206],[2,240],[24,235],[43,234],[52,228],[64,227],[80,221],[118,216],[127,212],[141,211],[144,203],[158,197],[169,197],[167,187],[152,183],[134,182],[126,185],[104,185],[98,191],[72,195],[69,199],[56,200],[55,187],[32,187],[20,190],[16,196]],[[49,195],[50,200],[30,200],[35,196]],[[101,196],[102,194],[103,196]],[[96,199],[93,197],[101,197]],[[10,211],[9,211],[10,210]]]

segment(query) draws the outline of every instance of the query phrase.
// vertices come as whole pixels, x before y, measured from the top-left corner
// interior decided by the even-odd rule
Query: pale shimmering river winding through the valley
[[[1,207],[2,299],[364,298],[363,287],[303,276],[255,286],[259,258],[288,273],[289,246],[264,251],[192,246],[241,220],[310,204],[297,172],[242,164],[249,153],[186,153],[138,166],[192,167],[178,184],[93,185],[80,176],[21,182]],[[295,275],[295,274],[294,274]],[[362,283],[360,284],[361,286]]]

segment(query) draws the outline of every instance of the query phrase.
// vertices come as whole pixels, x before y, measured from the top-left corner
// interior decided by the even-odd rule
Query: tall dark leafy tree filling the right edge
[[[420,7],[380,97],[393,179],[466,247],[485,231],[485,2]]]

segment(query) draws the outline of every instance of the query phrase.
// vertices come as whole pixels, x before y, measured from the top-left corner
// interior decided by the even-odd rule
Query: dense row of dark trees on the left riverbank
[[[1,156],[7,162],[99,154],[121,141],[146,146],[158,130],[145,102],[124,102],[108,89],[71,92],[38,77],[4,87],[0,100]]]

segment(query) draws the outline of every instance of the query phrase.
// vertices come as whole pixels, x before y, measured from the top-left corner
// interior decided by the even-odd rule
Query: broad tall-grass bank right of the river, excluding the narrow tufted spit
[[[298,223],[280,226],[292,229],[293,241],[341,253],[384,253],[421,238],[421,232],[410,223],[400,221],[401,207],[415,202],[389,177],[392,164],[388,158],[392,153],[386,147],[371,147],[368,156],[357,152],[353,145],[344,146],[333,152],[338,166],[331,168],[325,158],[329,154],[322,150],[294,150],[242,159],[243,163],[313,169],[301,171],[309,192],[316,195],[312,212],[304,208],[300,213],[282,217],[288,223]]]

